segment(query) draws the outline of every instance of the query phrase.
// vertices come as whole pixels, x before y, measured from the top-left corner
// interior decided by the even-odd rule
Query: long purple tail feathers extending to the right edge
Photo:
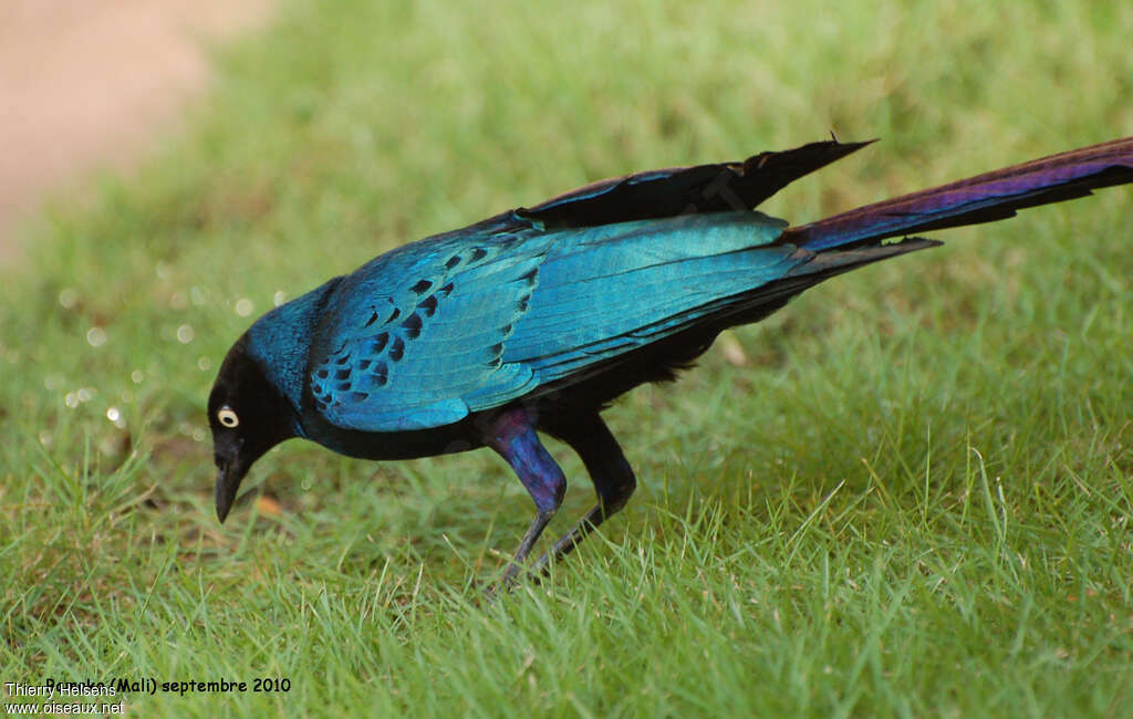
[[[1034,205],[1133,182],[1133,137],[1072,149],[789,228],[785,241],[809,250],[993,222]]]

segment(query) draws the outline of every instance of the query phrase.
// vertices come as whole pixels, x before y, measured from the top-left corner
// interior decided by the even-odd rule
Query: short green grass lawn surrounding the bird
[[[638,495],[496,606],[531,505],[485,452],[289,443],[247,482],[279,511],[218,525],[241,299],[830,129],[885,142],[769,212],[1133,134],[1128,3],[761,5],[292,5],[222,53],[190,129],[0,277],[0,681],[290,679],[144,717],[1131,716],[1128,189],[939,233],[736,331],[747,366],[631,394]],[[555,452],[562,530],[590,488]]]

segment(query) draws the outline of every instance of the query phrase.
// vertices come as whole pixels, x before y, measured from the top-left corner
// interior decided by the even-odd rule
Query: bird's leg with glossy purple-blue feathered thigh
[[[504,572],[501,584],[506,587],[516,580],[531,547],[538,541],[547,522],[562,505],[566,494],[566,478],[554,457],[546,451],[535,434],[535,421],[530,412],[516,409],[495,418],[487,431],[487,444],[502,456],[519,476],[535,500],[536,514],[516,556]]]

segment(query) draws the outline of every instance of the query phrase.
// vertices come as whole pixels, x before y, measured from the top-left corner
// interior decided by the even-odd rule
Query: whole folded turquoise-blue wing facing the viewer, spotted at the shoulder
[[[346,277],[316,408],[369,431],[459,421],[671,335],[803,262],[753,212],[426,240]]]

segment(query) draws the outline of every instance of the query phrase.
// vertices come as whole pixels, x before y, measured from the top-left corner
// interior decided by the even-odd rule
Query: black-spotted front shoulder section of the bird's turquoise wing
[[[332,423],[368,431],[459,421],[484,387],[523,394],[533,373],[503,361],[546,242],[472,234],[383,255],[329,299],[309,384]]]

